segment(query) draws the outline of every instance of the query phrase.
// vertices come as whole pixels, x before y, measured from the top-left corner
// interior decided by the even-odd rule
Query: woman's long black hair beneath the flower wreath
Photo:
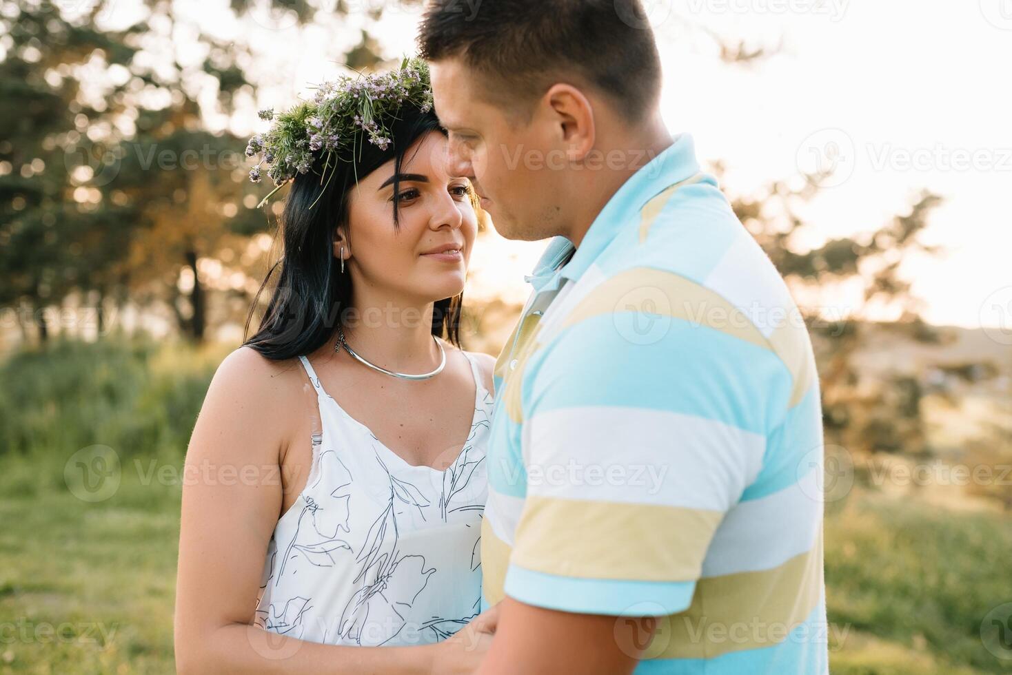
[[[333,169],[333,176],[330,175],[333,161],[325,174],[326,160],[320,157],[310,172],[299,174],[291,182],[280,221],[283,253],[268,270],[253,299],[244,335],[249,330],[261,293],[275,270],[280,268],[277,285],[260,327],[243,343],[244,346],[268,359],[283,360],[309,354],[333,338],[338,321],[345,318],[351,302],[351,275],[341,274],[341,262],[334,256],[335,229],[340,226],[348,233],[349,191],[357,180],[391,160],[395,162],[395,176],[399,176],[408,150],[416,140],[429,131],[445,134],[431,110],[422,112],[405,105],[399,114],[399,119],[389,124],[393,142],[387,150],[362,137],[356,142],[354,157],[342,158]],[[321,176],[326,179],[321,181]],[[395,180],[394,194],[399,190],[400,181]],[[395,199],[395,230],[399,224],[397,202]],[[462,298],[461,293],[437,301],[432,314],[432,334],[457,346]]]

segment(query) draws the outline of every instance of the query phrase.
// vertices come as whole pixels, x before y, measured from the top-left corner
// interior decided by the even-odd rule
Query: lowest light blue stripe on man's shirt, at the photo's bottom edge
[[[750,631],[751,631],[751,626]],[[820,602],[803,623],[774,646],[723,654],[712,659],[641,661],[635,675],[829,674],[826,605]],[[765,629],[763,629],[765,630]],[[727,634],[725,634],[727,636]],[[761,635],[761,634],[760,634]],[[705,636],[705,634],[704,634]],[[705,640],[705,637],[703,637]]]

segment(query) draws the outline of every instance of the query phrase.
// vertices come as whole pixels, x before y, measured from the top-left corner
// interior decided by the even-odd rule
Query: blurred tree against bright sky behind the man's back
[[[716,172],[723,174],[723,167]],[[827,178],[814,174],[799,182],[774,181],[758,194],[732,197],[732,207],[795,297],[810,300],[798,304],[815,338],[828,439],[848,449],[926,452],[921,383],[902,373],[869,382],[855,356],[881,329],[870,313],[875,307],[899,314],[891,330],[919,342],[940,339],[920,317],[920,300],[911,294],[902,263],[915,253],[937,253],[920,235],[941,198],[921,192],[909,212],[884,224],[806,249],[798,244],[800,235],[816,225],[798,215],[798,207],[819,194]],[[855,284],[863,302],[844,315],[834,298]]]

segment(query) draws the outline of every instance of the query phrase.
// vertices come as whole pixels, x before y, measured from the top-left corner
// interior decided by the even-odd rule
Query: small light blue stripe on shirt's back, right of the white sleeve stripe
[[[742,501],[759,499],[796,483],[811,469],[806,457],[822,446],[822,404],[819,383],[814,382],[797,405],[787,411],[783,423],[769,435],[762,470],[745,488]]]

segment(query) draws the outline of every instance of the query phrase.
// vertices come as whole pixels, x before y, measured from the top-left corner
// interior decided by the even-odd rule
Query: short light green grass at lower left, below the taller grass
[[[179,488],[124,471],[86,503],[52,486],[61,463],[0,465],[0,672],[172,672]]]

